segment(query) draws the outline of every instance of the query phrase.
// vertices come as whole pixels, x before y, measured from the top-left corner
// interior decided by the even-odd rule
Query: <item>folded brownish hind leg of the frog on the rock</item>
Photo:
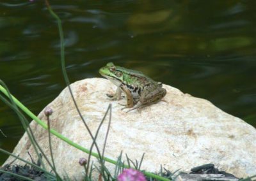
[[[152,92],[144,91],[141,94],[140,101],[138,101],[138,104],[134,106],[134,108],[132,108],[131,110],[136,110],[138,108],[143,108],[145,106],[155,104],[158,101],[160,101],[165,95],[166,95],[166,89],[162,87],[159,87]],[[131,112],[131,110],[127,112]]]

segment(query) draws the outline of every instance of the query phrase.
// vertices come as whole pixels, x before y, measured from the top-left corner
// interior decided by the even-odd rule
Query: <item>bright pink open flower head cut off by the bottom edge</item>
[[[143,173],[132,168],[124,169],[123,173],[118,175],[118,181],[146,181]]]

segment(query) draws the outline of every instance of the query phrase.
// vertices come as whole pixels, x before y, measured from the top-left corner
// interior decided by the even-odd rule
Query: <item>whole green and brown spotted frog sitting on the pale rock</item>
[[[100,68],[99,73],[117,87],[114,95],[107,94],[111,100],[122,99],[124,92],[127,99],[124,108],[131,108],[128,112],[157,103],[166,95],[161,82],[155,82],[140,71],[115,66],[113,62]]]

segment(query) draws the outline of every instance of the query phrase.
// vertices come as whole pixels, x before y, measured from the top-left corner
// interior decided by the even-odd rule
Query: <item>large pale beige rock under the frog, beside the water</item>
[[[254,127],[205,99],[183,94],[168,85],[163,87],[167,94],[162,101],[143,108],[141,112],[133,110],[126,113],[118,105],[125,103],[124,100],[107,99],[106,94],[116,89],[109,80],[90,78],[72,83],[77,105],[93,135],[109,103],[113,104],[106,157],[116,159],[123,151],[132,160],[140,160],[145,152],[142,169],[153,172],[159,171],[160,164],[170,171],[189,171],[195,166],[213,163],[219,170],[236,177],[256,174]],[[77,114],[68,89],[64,89],[48,106],[53,110],[51,127],[79,145],[90,148],[92,140]],[[44,110],[38,117],[46,120]],[[97,138],[100,150],[107,126],[105,121]],[[31,122],[31,127],[39,144],[49,155],[47,131],[35,121]],[[55,136],[52,136],[52,146],[56,168],[62,173],[67,171],[70,177],[81,178],[84,170],[78,161],[87,154]],[[24,134],[13,153],[30,161],[28,151],[36,158],[28,136]],[[9,158],[6,163],[12,160]]]

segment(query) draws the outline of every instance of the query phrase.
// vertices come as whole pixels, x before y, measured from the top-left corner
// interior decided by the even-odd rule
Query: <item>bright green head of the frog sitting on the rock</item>
[[[119,69],[119,67],[115,66],[112,62],[109,62],[106,66],[99,69],[100,75],[108,78],[111,82],[113,82],[116,86],[119,86],[122,82],[124,82],[124,76]]]

